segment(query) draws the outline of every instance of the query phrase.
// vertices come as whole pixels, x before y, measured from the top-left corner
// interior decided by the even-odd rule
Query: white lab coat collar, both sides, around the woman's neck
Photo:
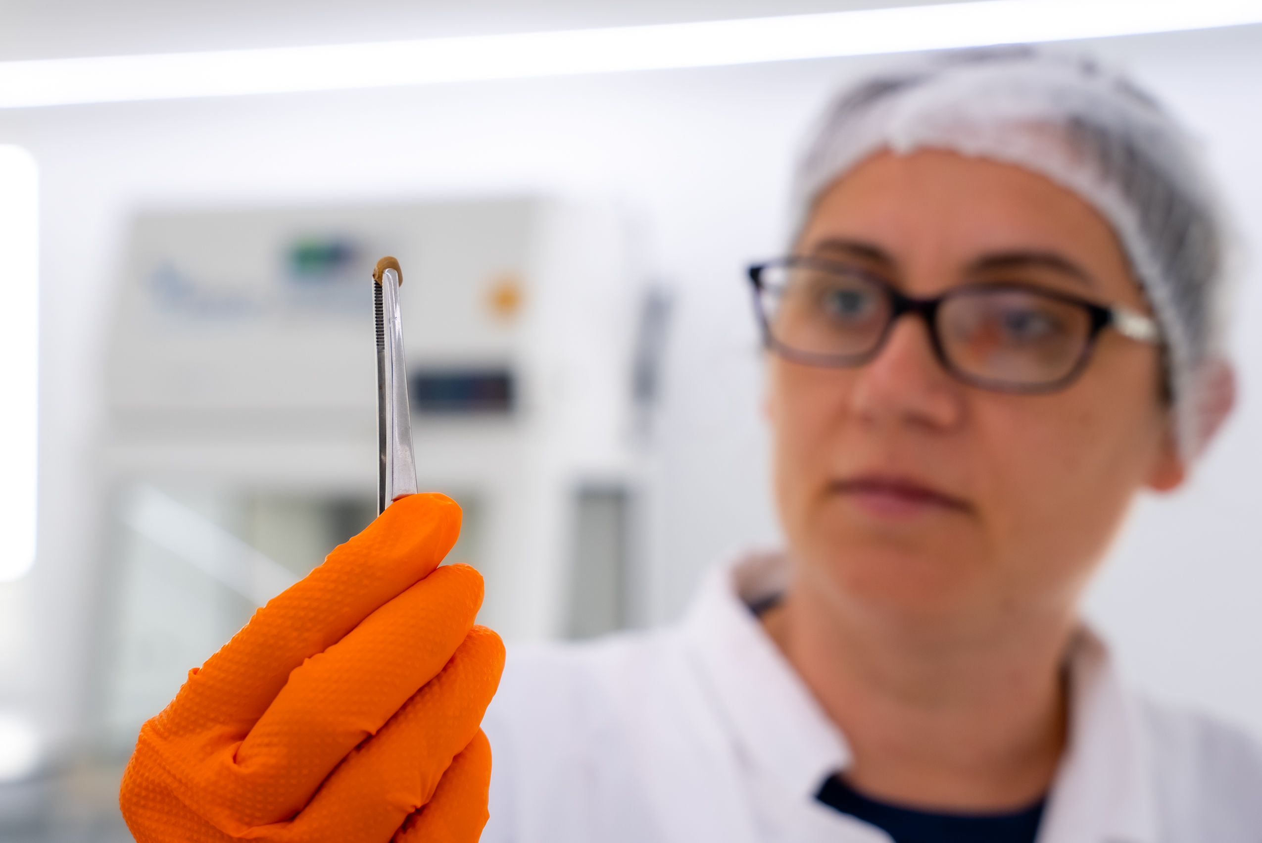
[[[738,751],[782,791],[814,803],[824,780],[849,765],[849,747],[748,608],[782,591],[787,573],[781,554],[712,569],[683,631]],[[1066,665],[1069,745],[1039,843],[1155,843],[1151,750],[1137,702],[1087,626]]]

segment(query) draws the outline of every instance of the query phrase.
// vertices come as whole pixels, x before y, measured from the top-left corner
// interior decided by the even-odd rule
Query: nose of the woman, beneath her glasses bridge
[[[964,389],[939,362],[924,319],[906,314],[858,370],[851,401],[871,423],[950,429],[963,418]]]

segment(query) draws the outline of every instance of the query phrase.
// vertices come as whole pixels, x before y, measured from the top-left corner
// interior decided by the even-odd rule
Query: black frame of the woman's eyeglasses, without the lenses
[[[801,351],[791,346],[786,346],[771,332],[771,322],[767,318],[766,308],[764,307],[762,297],[769,292],[769,286],[764,278],[764,274],[772,268],[817,268],[823,270],[834,270],[838,274],[858,276],[871,284],[877,289],[882,290],[890,299],[890,317],[881,329],[880,337],[873,343],[872,348],[864,351],[859,355],[820,355],[809,351]],[[805,255],[790,255],[787,257],[777,257],[775,260],[762,261],[757,264],[751,264],[747,269],[750,283],[753,286],[753,309],[758,319],[758,327],[762,331],[762,343],[769,351],[774,351],[776,355],[791,360],[794,362],[805,363],[808,366],[824,366],[830,368],[852,368],[856,366],[863,366],[871,362],[881,353],[885,348],[886,341],[890,338],[890,333],[893,331],[895,323],[907,313],[914,313],[919,315],[924,323],[925,328],[929,331],[929,345],[934,350],[934,357],[938,358],[938,363],[952,377],[968,384],[969,386],[977,386],[979,389],[986,389],[996,392],[1013,392],[1017,395],[1046,395],[1049,392],[1056,392],[1070,384],[1073,384],[1083,374],[1087,366],[1090,363],[1092,353],[1095,351],[1095,341],[1104,328],[1112,327],[1114,331],[1124,337],[1135,339],[1137,342],[1146,342],[1152,345],[1161,343],[1161,331],[1157,327],[1156,321],[1138,313],[1131,308],[1121,304],[1113,304],[1106,307],[1103,304],[1097,304],[1089,299],[1084,299],[1068,293],[1061,293],[1059,290],[1049,290],[1042,286],[1036,286],[1034,284],[1021,284],[1016,281],[1000,281],[993,284],[965,284],[962,286],[955,286],[941,295],[935,295],[933,298],[921,299],[904,294],[901,290],[895,288],[887,280],[876,275],[873,273],[864,271],[858,266],[851,264],[842,264],[838,261],[827,260],[823,257],[811,257]],[[1047,384],[1013,384],[1010,381],[996,381],[986,377],[978,377],[972,375],[959,367],[957,367],[950,357],[946,355],[943,347],[941,336],[938,331],[938,310],[941,308],[943,303],[948,299],[959,298],[962,295],[977,294],[981,290],[1020,290],[1023,293],[1034,293],[1036,295],[1042,295],[1045,298],[1056,299],[1066,304],[1073,304],[1087,310],[1088,318],[1090,319],[1090,327],[1087,333],[1087,341],[1083,343],[1083,350],[1079,353],[1078,361],[1069,370],[1069,372],[1055,381]]]

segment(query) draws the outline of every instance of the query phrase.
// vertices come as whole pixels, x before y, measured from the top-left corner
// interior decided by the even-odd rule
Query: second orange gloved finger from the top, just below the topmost
[[[439,568],[295,669],[235,760],[216,758],[236,780],[207,806],[216,822],[251,827],[298,813],[351,750],[443,669],[481,603],[477,570]]]

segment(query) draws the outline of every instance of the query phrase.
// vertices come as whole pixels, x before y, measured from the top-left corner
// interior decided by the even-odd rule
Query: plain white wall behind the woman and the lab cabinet
[[[1092,47],[1196,126],[1262,244],[1262,28]],[[780,250],[805,124],[839,81],[886,61],[0,112],[0,143],[32,150],[43,178],[40,559],[0,608],[25,602],[45,665],[0,679],[0,703],[50,729],[82,722],[103,541],[100,353],[139,207],[543,192],[634,208],[651,271],[678,290],[649,541],[651,618],[676,617],[705,565],[776,540],[742,268]],[[1239,317],[1241,411],[1184,492],[1138,509],[1090,611],[1136,681],[1262,733],[1257,283]]]

